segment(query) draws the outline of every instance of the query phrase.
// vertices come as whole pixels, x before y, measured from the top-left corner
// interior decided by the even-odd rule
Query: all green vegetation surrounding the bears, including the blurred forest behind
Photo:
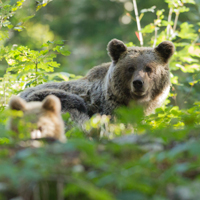
[[[114,121],[94,116],[85,125],[87,133],[66,114],[64,119],[73,127],[66,132],[68,142],[41,141],[39,148],[30,147],[29,133],[6,130],[9,116],[20,114],[6,109],[12,95],[44,82],[79,78],[67,73],[81,54],[70,58],[72,46],[85,42],[84,51],[94,53],[94,58],[87,55],[83,63],[92,67],[105,57],[106,43],[113,37],[140,45],[134,35],[134,11],[127,2],[132,4],[0,1],[0,199],[200,199],[200,5],[193,0],[159,1],[157,7],[151,1],[137,2],[144,46],[170,40],[176,47],[170,62],[170,97],[155,114],[145,117],[133,104],[119,108]],[[66,25],[70,21],[73,27]],[[70,37],[74,41],[66,41]],[[75,64],[82,73],[82,54],[79,57]]]

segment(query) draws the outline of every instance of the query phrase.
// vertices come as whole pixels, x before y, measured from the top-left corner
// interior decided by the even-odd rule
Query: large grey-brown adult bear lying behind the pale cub
[[[20,96],[26,101],[42,101],[48,94],[61,99],[76,94],[84,99],[89,117],[96,113],[112,115],[116,107],[127,106],[130,101],[142,105],[146,115],[161,106],[170,90],[172,42],[164,41],[155,48],[126,47],[113,39],[107,50],[112,62],[92,68],[85,77],[38,85]],[[65,111],[66,103],[61,100],[61,104]]]

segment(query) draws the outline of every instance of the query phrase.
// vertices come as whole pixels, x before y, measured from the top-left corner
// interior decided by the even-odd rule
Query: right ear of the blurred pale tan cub
[[[54,95],[47,96],[42,102],[42,107],[57,114],[61,111],[60,100]]]

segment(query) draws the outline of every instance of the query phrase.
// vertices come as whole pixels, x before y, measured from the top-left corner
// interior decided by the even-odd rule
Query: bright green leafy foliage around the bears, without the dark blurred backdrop
[[[114,121],[94,116],[85,125],[86,133],[66,114],[72,127],[66,144],[31,141],[29,133],[6,130],[9,116],[20,115],[5,108],[11,95],[44,82],[77,78],[53,73],[59,67],[56,56],[70,54],[63,40],[45,41],[40,49],[6,45],[9,30],[21,34],[25,29],[25,23],[15,26],[11,20],[23,2],[0,1],[0,56],[7,65],[0,82],[0,199],[199,199],[200,24],[178,21],[195,2],[165,0],[168,9],[152,5],[141,11],[141,23],[149,13],[156,15],[142,29],[146,45],[171,40],[176,46],[170,63],[172,91],[165,105],[147,117],[134,104],[119,108]],[[37,2],[35,15],[48,2]]]

